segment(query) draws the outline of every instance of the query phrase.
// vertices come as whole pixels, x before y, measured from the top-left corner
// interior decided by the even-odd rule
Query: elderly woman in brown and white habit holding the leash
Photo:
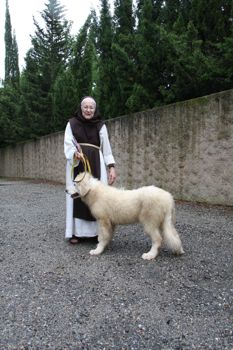
[[[107,127],[101,120],[96,101],[91,96],[81,100],[78,110],[66,125],[64,153],[67,160],[67,188],[73,185],[77,174],[84,170],[80,161],[81,154],[75,147],[74,140],[88,158],[92,175],[103,183],[112,185],[116,180],[115,160]],[[73,168],[73,162],[78,166]],[[88,207],[80,198],[72,199],[66,194],[65,238],[68,238],[70,243],[77,244],[79,237],[97,237],[97,235],[97,223]]]

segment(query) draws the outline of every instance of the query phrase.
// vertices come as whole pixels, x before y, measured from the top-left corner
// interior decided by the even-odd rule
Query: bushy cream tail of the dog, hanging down
[[[163,238],[166,246],[175,254],[184,253],[178,232],[175,229],[175,205],[172,203],[171,210],[165,215],[163,222]]]

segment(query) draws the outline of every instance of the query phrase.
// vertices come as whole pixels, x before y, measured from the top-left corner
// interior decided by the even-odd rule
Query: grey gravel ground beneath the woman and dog
[[[177,203],[186,252],[141,255],[139,225],[64,239],[64,186],[0,179],[0,349],[233,349],[233,208]]]

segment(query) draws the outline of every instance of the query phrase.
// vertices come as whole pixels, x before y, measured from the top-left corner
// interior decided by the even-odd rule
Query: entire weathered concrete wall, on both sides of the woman
[[[233,90],[107,122],[117,186],[233,205]],[[64,182],[63,132],[0,150],[0,176]]]

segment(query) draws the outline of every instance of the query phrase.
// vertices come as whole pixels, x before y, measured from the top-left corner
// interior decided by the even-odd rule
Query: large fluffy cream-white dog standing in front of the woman
[[[91,255],[99,255],[104,251],[112,239],[115,225],[132,223],[143,224],[152,241],[151,249],[142,255],[143,259],[156,258],[162,238],[173,253],[184,253],[174,227],[175,207],[169,192],[155,186],[135,190],[117,189],[104,185],[89,173],[85,176],[79,174],[75,179],[75,187],[99,226],[99,243],[96,249],[90,251]]]

